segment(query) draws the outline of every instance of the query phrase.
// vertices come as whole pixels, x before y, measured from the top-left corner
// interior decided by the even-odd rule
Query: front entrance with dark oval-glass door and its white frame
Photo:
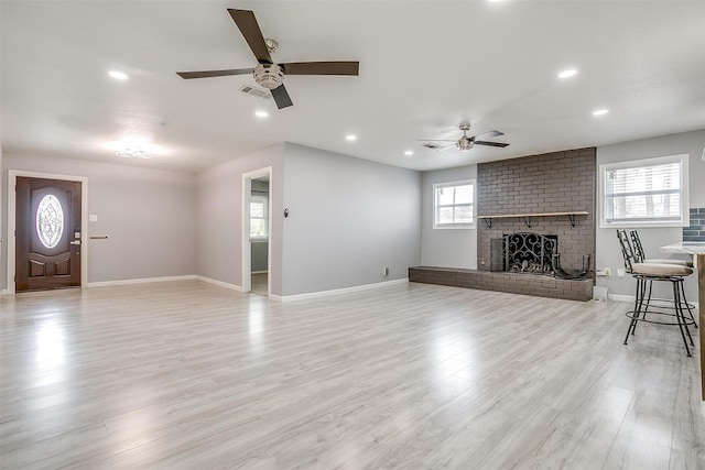
[[[87,178],[12,170],[8,176],[8,292],[85,285]]]

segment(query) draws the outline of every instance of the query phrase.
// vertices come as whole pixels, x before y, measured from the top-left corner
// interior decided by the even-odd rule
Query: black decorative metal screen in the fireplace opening
[[[506,271],[553,274],[551,259],[558,251],[558,236],[509,233],[502,238],[502,251]]]

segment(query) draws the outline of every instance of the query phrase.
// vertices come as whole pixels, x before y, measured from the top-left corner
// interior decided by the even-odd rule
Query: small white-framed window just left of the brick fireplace
[[[475,228],[475,181],[433,185],[434,229]]]

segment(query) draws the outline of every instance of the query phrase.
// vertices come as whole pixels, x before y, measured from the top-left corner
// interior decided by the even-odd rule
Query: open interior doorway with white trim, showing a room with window
[[[242,175],[242,291],[269,297],[271,167]]]

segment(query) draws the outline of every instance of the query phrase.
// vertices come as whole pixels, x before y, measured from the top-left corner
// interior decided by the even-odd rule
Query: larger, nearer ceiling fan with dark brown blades
[[[182,78],[208,78],[225,77],[228,75],[254,76],[258,85],[267,88],[272,94],[274,102],[279,109],[292,106],[283,81],[286,75],[351,75],[359,74],[359,62],[290,62],[286,64],[275,64],[270,55],[279,47],[276,41],[264,39],[260,26],[254,18],[254,12],[250,10],[228,9],[235,24],[240,29],[240,33],[247,41],[258,64],[254,68],[235,68],[229,70],[205,70],[205,72],[177,72]]]

